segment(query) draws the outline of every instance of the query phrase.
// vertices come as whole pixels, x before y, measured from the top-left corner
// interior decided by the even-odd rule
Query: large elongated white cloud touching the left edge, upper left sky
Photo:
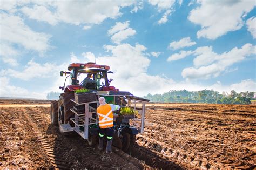
[[[50,35],[32,31],[18,16],[0,13],[1,41],[22,45],[25,49],[44,52],[49,49]]]

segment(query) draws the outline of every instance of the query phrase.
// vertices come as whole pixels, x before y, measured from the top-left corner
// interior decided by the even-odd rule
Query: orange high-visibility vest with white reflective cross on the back
[[[99,117],[99,127],[100,128],[109,128],[113,127],[113,112],[109,104],[99,106],[97,108],[97,114]]]

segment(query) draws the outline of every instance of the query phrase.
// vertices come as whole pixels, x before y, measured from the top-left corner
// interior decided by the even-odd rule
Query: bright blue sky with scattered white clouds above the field
[[[256,91],[254,0],[0,2],[0,97],[46,99],[95,60],[136,96]]]

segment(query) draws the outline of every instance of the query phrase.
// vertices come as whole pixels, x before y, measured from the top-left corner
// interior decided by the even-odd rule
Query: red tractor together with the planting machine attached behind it
[[[145,125],[145,104],[149,100],[133,96],[130,92],[119,91],[110,86],[112,79],[107,74],[113,73],[107,65],[95,63],[72,63],[68,66],[68,72],[60,71],[60,76],[66,76],[64,86],[59,87],[64,92],[59,100],[51,102],[51,123],[59,126],[59,131],[64,135],[76,132],[86,139],[90,146],[98,141],[98,118],[96,108],[99,106],[98,98],[104,97],[106,103],[130,107],[139,113],[134,115],[114,115],[113,145],[126,151],[136,134],[143,133]],[[79,77],[91,73],[96,83],[87,83],[85,88],[89,92],[83,95],[75,93],[75,90],[84,88],[79,82]],[[65,86],[69,79],[69,85]],[[140,107],[136,107],[136,104]],[[135,112],[134,112],[135,113]]]

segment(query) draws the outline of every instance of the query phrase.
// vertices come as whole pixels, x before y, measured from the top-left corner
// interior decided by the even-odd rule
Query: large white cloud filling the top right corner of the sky
[[[216,39],[229,31],[239,30],[243,25],[243,18],[254,6],[254,0],[248,1],[197,1],[199,7],[193,9],[188,19],[201,25],[197,37]]]

